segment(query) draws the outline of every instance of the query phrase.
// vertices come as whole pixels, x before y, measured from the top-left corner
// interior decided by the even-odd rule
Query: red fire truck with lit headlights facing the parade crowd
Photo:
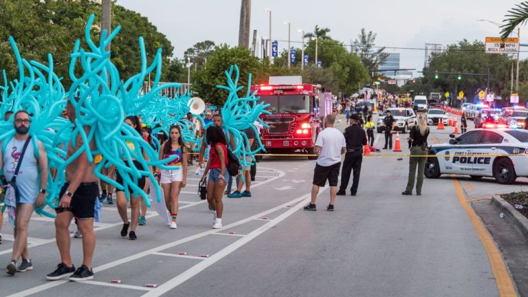
[[[272,76],[268,85],[254,85],[252,91],[259,102],[270,104],[271,114],[261,115],[270,126],[261,131],[266,151],[313,154],[320,131],[320,86],[303,84],[300,76]]]

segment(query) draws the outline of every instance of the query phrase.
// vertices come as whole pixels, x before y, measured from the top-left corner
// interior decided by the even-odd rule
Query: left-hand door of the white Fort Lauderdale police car
[[[456,138],[456,144],[452,144],[452,147],[448,150],[452,157],[450,158],[451,162],[445,162],[446,171],[466,175],[472,173],[473,164],[470,156],[472,155],[473,148],[481,139],[483,132],[483,130],[467,131]],[[448,170],[448,166],[451,167],[450,170]]]

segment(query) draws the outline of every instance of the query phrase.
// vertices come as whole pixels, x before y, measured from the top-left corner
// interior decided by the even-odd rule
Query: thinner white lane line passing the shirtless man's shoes
[[[326,190],[327,188],[328,188],[328,187],[321,188],[321,189],[320,189],[320,192],[323,192],[323,191]],[[193,240],[195,240],[195,239],[200,239],[200,238],[202,238],[203,236],[207,236],[207,235],[209,235],[209,234],[213,234],[213,233],[216,233],[216,232],[220,232],[221,230],[228,230],[228,229],[230,229],[230,228],[234,228],[234,227],[236,227],[236,226],[238,226],[238,225],[243,225],[243,224],[248,223],[248,222],[250,222],[250,221],[252,221],[252,220],[254,220],[254,219],[259,219],[259,218],[261,218],[261,217],[264,217],[264,216],[267,215],[267,214],[270,214],[270,213],[272,213],[272,212],[276,212],[277,210],[281,210],[282,208],[285,208],[286,206],[294,205],[294,204],[296,204],[296,203],[298,203],[298,204],[297,204],[296,206],[292,207],[290,210],[293,210],[293,209],[297,210],[298,208],[303,207],[303,203],[301,203],[301,202],[303,202],[303,201],[309,199],[310,195],[311,195],[311,193],[305,194],[305,195],[303,195],[303,196],[301,196],[301,197],[298,197],[298,198],[296,198],[296,199],[293,199],[293,200],[291,200],[291,201],[287,201],[287,202],[285,202],[285,203],[283,203],[283,204],[281,204],[281,205],[279,205],[279,206],[276,206],[276,207],[274,207],[274,208],[270,208],[269,210],[265,210],[265,211],[263,211],[263,212],[261,212],[261,213],[259,213],[259,214],[255,214],[255,215],[252,215],[252,216],[247,217],[247,218],[245,218],[245,219],[241,219],[240,221],[236,221],[236,222],[234,222],[234,223],[230,223],[230,224],[228,224],[228,225],[224,225],[222,229],[212,229],[212,230],[208,230],[208,231],[206,231],[206,232],[201,232],[201,233],[198,233],[198,234],[194,234],[194,235],[188,236],[188,237],[186,237],[186,238],[184,238],[184,239],[179,239],[179,240],[177,240],[177,241],[173,241],[173,242],[171,242],[171,243],[166,243],[166,244],[164,244],[164,245],[159,245],[159,246],[157,246],[157,247],[155,247],[155,248],[151,248],[151,249],[149,249],[149,250],[145,250],[145,251],[143,251],[143,252],[139,252],[139,253],[137,253],[137,254],[133,254],[133,255],[131,255],[131,256],[126,256],[126,257],[124,257],[124,258],[122,258],[122,259],[118,259],[118,260],[116,260],[116,261],[112,261],[112,262],[110,262],[110,263],[107,263],[107,264],[104,264],[104,265],[101,265],[101,266],[98,266],[98,267],[94,267],[93,270],[94,270],[94,272],[101,272],[101,271],[103,271],[103,270],[108,270],[108,269],[113,268],[113,267],[115,267],[115,266],[118,266],[118,265],[121,265],[121,264],[124,264],[124,263],[129,263],[129,262],[134,261],[134,260],[136,260],[136,259],[140,259],[140,258],[142,258],[142,257],[144,257],[144,256],[151,255],[151,254],[153,254],[153,253],[155,253],[155,252],[160,252],[160,251],[162,251],[162,250],[166,250],[166,249],[168,249],[168,248],[173,248],[173,247],[175,247],[176,245],[181,245],[181,244],[183,244],[183,243],[187,243],[187,242],[189,242],[189,241],[193,241]],[[205,201],[205,200],[204,200],[204,201]],[[181,208],[180,208],[180,209],[181,209]],[[290,210],[288,210],[287,212],[284,212],[283,214],[288,213]],[[281,215],[283,215],[283,214],[281,214]],[[279,216],[279,217],[280,217],[280,216]],[[271,220],[268,220],[268,221],[269,221],[270,223],[274,223],[274,224],[276,224],[276,223],[279,222],[279,221],[271,221]],[[118,225],[122,225],[122,222],[118,223]],[[264,228],[264,227],[261,227],[261,228],[259,228],[258,230],[262,230],[263,228]],[[266,230],[267,230],[267,229],[266,229]],[[246,239],[247,237],[248,237],[248,236],[242,237],[241,239],[239,239],[239,241],[241,241],[242,239]],[[55,241],[55,240],[54,240],[54,241]],[[53,241],[53,242],[54,242],[54,241]],[[238,241],[237,241],[237,242],[238,242]],[[218,254],[218,253],[217,253],[217,254]],[[215,255],[216,255],[216,254],[215,254]],[[221,257],[223,258],[223,256],[221,256]],[[211,258],[209,258],[209,259],[211,259]],[[216,259],[216,258],[212,257],[212,259]],[[214,261],[214,262],[216,262],[216,261]],[[200,271],[201,271],[201,270],[200,270]],[[45,283],[45,284],[43,284],[43,285],[39,285],[39,286],[36,286],[36,287],[32,287],[32,288],[30,288],[30,289],[26,289],[26,290],[24,290],[24,291],[18,292],[18,293],[16,293],[16,294],[12,294],[12,295],[7,296],[7,297],[25,297],[25,296],[30,296],[30,295],[32,295],[32,294],[36,294],[36,293],[42,292],[42,291],[44,291],[44,290],[46,290],[46,289],[51,289],[51,288],[53,288],[53,287],[56,287],[56,286],[58,286],[58,285],[63,285],[63,284],[65,284],[65,283],[69,283],[69,281],[68,281],[68,280],[61,280],[61,281],[48,282],[48,283]]]

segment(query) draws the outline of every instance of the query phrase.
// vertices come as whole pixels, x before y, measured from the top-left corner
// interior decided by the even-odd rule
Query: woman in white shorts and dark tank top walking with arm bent
[[[178,215],[178,197],[181,188],[187,184],[187,149],[181,137],[181,129],[177,125],[170,126],[168,140],[159,149],[159,159],[166,159],[176,155],[176,158],[168,162],[168,166],[177,166],[174,170],[161,170],[161,179],[165,203],[170,210],[170,229],[176,229],[176,217]]]

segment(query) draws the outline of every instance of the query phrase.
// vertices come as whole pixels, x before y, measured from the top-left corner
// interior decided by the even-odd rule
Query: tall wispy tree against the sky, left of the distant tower
[[[363,65],[369,70],[379,69],[388,57],[388,53],[384,52],[385,47],[374,50],[376,36],[372,31],[367,33],[365,28],[361,28],[358,39],[351,43],[352,52],[361,58]]]

